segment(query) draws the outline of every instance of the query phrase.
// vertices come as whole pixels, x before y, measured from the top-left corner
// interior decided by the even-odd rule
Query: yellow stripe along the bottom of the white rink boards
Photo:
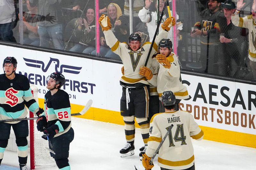
[[[38,100],[39,100],[39,107],[43,108],[44,107],[44,99],[39,98]],[[84,108],[84,105],[71,104],[71,113],[80,112]],[[156,115],[158,115],[158,114],[155,114],[154,116],[156,116]],[[109,122],[109,123],[124,125],[123,116],[120,115],[120,112],[96,108],[96,107],[91,107],[86,112],[86,114],[84,114],[82,116],[77,116],[77,117],[101,121],[101,122]],[[153,117],[151,120],[153,120]],[[140,126],[137,124],[136,120],[135,120],[135,127],[140,128]],[[236,144],[236,145],[256,148],[256,142],[255,142],[256,135],[242,133],[242,132],[235,132],[235,131],[230,131],[230,130],[224,130],[224,129],[211,128],[211,127],[206,127],[206,126],[199,126],[199,127],[204,131],[204,139],[206,139],[206,140],[212,140],[212,141],[216,141],[216,142],[222,142],[222,143],[227,143],[227,144]]]

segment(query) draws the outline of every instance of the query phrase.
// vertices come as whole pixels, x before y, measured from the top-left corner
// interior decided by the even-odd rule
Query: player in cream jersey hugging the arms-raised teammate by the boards
[[[158,44],[158,50],[160,54],[156,55],[157,62],[151,64],[151,68],[158,67],[158,74],[152,76],[148,82],[157,87],[159,100],[164,91],[172,91],[176,97],[175,110],[179,110],[180,100],[188,99],[189,95],[187,87],[181,83],[180,64],[178,57],[172,52],[172,41],[162,39]],[[143,66],[140,68],[140,74],[147,75],[151,70]],[[164,112],[161,105],[160,112]]]

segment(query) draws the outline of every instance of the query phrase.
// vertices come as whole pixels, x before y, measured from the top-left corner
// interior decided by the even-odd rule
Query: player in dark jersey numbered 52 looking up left
[[[50,153],[56,165],[61,170],[70,170],[68,163],[69,144],[74,139],[71,128],[70,102],[68,93],[61,90],[65,77],[57,72],[47,78],[46,88],[49,91],[44,96],[44,113],[36,120],[37,130],[44,133],[45,140],[49,138]],[[48,136],[48,137],[47,137]]]

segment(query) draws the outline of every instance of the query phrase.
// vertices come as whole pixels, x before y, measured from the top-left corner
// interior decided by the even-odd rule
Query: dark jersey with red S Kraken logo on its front
[[[26,118],[28,112],[25,105],[36,115],[38,104],[31,93],[28,78],[15,74],[15,78],[10,80],[5,74],[1,74],[0,120]]]

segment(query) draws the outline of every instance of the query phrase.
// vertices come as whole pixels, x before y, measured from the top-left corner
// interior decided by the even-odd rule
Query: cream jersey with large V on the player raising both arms
[[[146,62],[151,43],[145,42],[137,51],[132,51],[127,43],[119,42],[111,30],[103,31],[103,33],[107,45],[114,53],[119,55],[123,61],[124,75],[120,81],[128,84],[143,83],[149,85],[147,79],[144,76],[141,76],[139,72],[140,66],[144,66]],[[150,56],[157,53],[158,43],[161,39],[166,38],[167,34],[168,32],[161,28],[159,34],[156,36],[156,41],[154,42]],[[149,57],[147,67],[150,67],[151,62],[152,57]]]

